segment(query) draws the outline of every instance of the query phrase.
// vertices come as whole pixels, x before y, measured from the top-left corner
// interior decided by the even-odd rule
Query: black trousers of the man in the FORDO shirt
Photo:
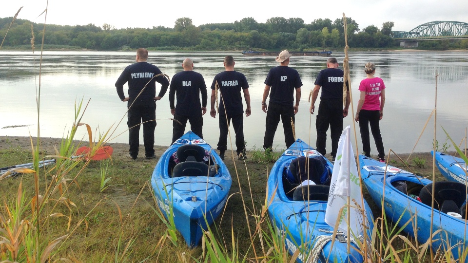
[[[331,156],[336,156],[338,141],[343,131],[343,100],[341,99],[320,99],[315,128],[317,129],[316,150],[322,155],[327,153],[325,146],[329,127],[331,133]]]

